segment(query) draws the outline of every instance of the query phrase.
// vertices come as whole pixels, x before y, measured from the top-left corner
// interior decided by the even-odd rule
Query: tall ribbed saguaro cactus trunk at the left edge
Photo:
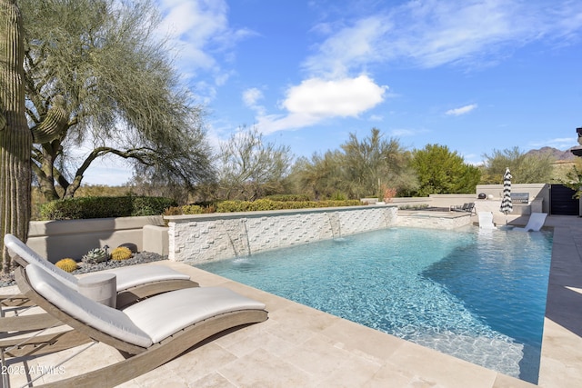
[[[32,134],[25,117],[22,21],[15,0],[0,0],[0,251],[2,271],[11,260],[5,234],[26,241],[30,221]]]

